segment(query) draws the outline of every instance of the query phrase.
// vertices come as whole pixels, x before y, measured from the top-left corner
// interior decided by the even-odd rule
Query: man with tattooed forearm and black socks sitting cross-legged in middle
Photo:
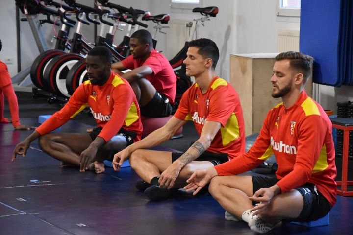
[[[239,97],[227,81],[215,75],[218,59],[213,41],[191,41],[184,64],[186,75],[194,76],[196,83],[183,94],[175,115],[165,126],[114,155],[115,170],[130,157],[131,167],[143,179],[136,188],[151,200],[173,197],[196,170],[222,164],[245,151]],[[194,122],[200,139],[185,153],[146,149],[169,140],[188,120]]]

